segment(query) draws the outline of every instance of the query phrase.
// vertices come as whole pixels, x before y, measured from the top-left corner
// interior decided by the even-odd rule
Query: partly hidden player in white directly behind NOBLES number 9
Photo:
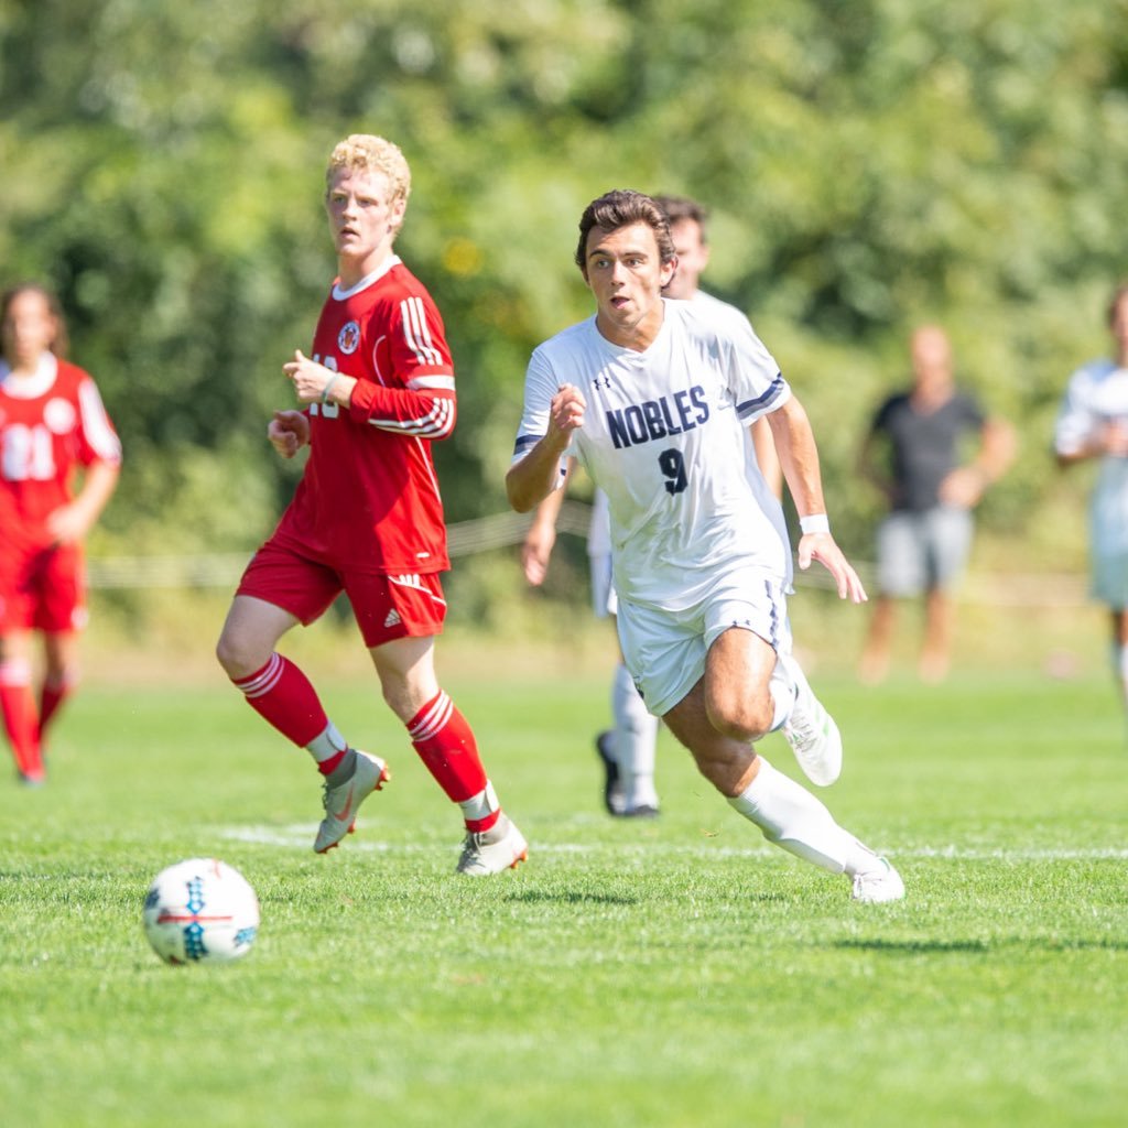
[[[678,267],[662,290],[667,298],[698,303],[703,311],[720,318],[747,318],[730,306],[699,289],[702,273],[708,265],[707,212],[684,196],[655,196],[670,224]],[[756,460],[773,493],[778,497],[783,475],[766,420],[751,428]],[[529,583],[544,582],[548,561],[556,544],[556,519],[564,502],[564,491],[556,490],[538,506],[525,538],[521,562]],[[597,617],[614,618],[617,608],[611,582],[611,535],[607,494],[597,487],[592,497],[591,527],[588,531],[588,559],[591,571],[591,597]],[[647,818],[658,814],[659,797],[654,766],[658,744],[658,717],[643,704],[623,662],[622,651],[611,678],[611,717],[614,728],[596,737],[596,750],[603,765],[603,805],[609,814]]]

